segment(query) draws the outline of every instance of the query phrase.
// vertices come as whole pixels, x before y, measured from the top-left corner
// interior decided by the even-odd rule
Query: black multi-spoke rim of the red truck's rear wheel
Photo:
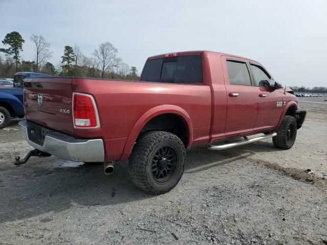
[[[152,159],[152,176],[156,182],[167,182],[172,178],[178,165],[178,156],[172,146],[162,146]]]

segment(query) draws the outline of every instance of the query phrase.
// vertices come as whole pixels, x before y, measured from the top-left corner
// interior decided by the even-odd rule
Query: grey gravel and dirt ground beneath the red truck
[[[31,149],[14,121],[0,130],[0,244],[327,244],[325,99],[299,98],[308,115],[292,149],[191,149],[159,196],[132,185],[127,162],[110,176],[56,157],[13,165]]]

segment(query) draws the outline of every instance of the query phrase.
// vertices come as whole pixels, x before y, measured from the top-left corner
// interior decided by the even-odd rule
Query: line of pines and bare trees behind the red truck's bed
[[[53,76],[75,76],[109,79],[138,80],[135,66],[129,67],[118,57],[118,50],[110,43],[99,44],[91,57],[83,55],[78,45],[64,46],[61,61],[54,65],[49,62],[53,52],[50,43],[42,35],[32,34],[29,39],[34,46],[34,59],[21,60],[20,53],[25,40],[18,32],[8,33],[0,48],[0,78],[13,78],[17,71],[40,72]]]

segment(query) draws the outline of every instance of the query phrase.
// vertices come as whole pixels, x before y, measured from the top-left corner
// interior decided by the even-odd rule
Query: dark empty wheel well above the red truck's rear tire
[[[185,148],[189,144],[189,127],[187,122],[180,115],[167,113],[153,117],[143,127],[137,138],[146,132],[155,130],[166,131],[177,135],[185,145]]]

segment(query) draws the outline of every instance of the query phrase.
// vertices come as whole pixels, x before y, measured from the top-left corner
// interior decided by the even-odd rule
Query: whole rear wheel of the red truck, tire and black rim
[[[153,131],[137,141],[129,160],[132,182],[146,192],[162,194],[181,179],[186,152],[180,138],[169,132]]]

